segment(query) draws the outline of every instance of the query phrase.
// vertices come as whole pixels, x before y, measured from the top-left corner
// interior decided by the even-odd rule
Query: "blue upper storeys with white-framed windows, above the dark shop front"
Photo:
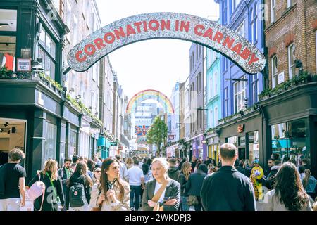
[[[220,4],[220,23],[248,39],[260,51],[264,51],[261,0],[216,0]],[[263,75],[248,75],[230,59],[221,56],[222,116],[239,113],[259,101],[263,91]],[[230,79],[247,79],[235,81]]]

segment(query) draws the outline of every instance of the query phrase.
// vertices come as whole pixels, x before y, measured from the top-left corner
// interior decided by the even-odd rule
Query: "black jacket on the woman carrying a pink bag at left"
[[[58,176],[56,181],[52,181],[54,188],[56,190],[56,192],[54,191],[54,189],[52,188],[51,185],[51,172],[48,172],[49,176],[47,176],[41,172],[40,174],[40,179],[39,179],[39,175],[36,175],[35,177],[33,177],[33,179],[30,181],[30,183],[28,184],[29,186],[32,186],[32,184],[34,184],[36,181],[43,181],[43,183],[45,184],[45,195],[44,195],[44,202],[43,202],[43,206],[42,206],[42,211],[58,211],[58,204],[57,204],[57,200],[56,198],[59,197],[59,200],[61,200],[61,205],[64,205],[64,194],[63,194],[63,186],[61,183],[61,177]],[[55,195],[56,193],[56,195]],[[40,209],[41,207],[41,203],[42,203],[42,195],[39,196],[39,198],[35,199],[34,201],[34,210],[37,211]]]

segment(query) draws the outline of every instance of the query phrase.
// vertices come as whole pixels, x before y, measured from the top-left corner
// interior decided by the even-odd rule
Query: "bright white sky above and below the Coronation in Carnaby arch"
[[[213,0],[96,0],[101,26],[131,15],[174,12],[217,20],[219,6]],[[189,41],[154,39],[124,46],[109,54],[123,93],[131,98],[144,89],[156,89],[170,97],[176,82],[189,75]]]

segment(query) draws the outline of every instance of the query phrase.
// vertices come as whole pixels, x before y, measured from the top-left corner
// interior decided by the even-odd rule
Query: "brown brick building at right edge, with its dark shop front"
[[[262,94],[266,159],[300,165],[306,158],[317,174],[317,2],[266,1],[268,89]],[[307,75],[309,75],[307,77]]]

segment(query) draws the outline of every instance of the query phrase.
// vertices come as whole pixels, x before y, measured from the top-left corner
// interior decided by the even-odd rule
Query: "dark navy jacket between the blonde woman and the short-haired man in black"
[[[188,193],[188,195],[200,196],[200,191],[205,176],[207,176],[207,174],[199,169],[197,169],[196,173],[190,174],[189,179],[186,183],[186,192]]]

